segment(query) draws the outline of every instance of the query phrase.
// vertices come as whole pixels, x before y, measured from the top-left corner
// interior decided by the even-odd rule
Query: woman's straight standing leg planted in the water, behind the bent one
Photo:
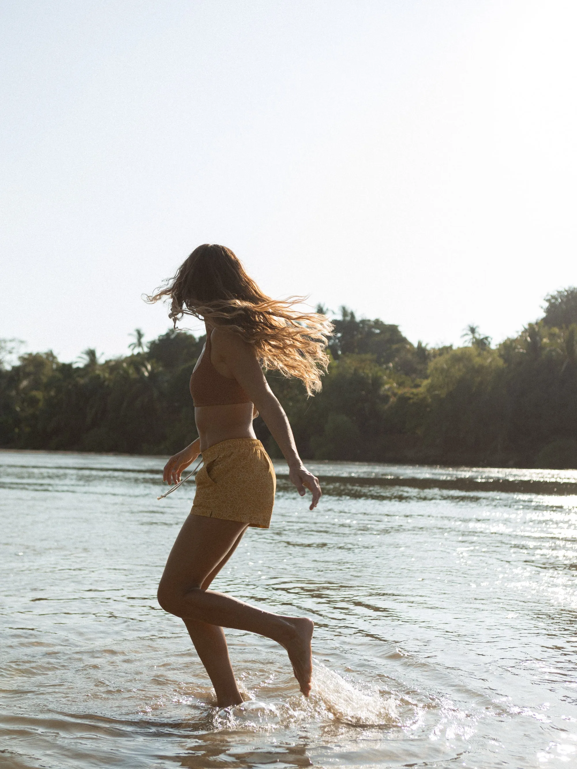
[[[238,548],[238,543],[245,533],[244,528],[232,548],[228,551],[222,561],[208,574],[208,577],[202,583],[202,590],[207,590],[212,580],[222,569],[231,555]],[[208,624],[201,620],[184,619],[183,622],[188,630],[188,635],[195,646],[196,653],[200,661],[206,668],[208,677],[215,687],[216,701],[219,707],[228,707],[229,705],[238,705],[242,700],[242,694],[238,691],[238,685],[230,657],[228,656],[228,647],[226,645],[225,631],[219,625]]]

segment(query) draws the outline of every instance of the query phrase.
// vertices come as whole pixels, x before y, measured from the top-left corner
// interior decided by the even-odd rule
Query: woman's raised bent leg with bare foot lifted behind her
[[[238,521],[190,514],[168,556],[158,586],[158,602],[165,611],[182,619],[246,630],[277,641],[288,651],[301,691],[308,696],[312,675],[312,621],[271,614],[203,589],[205,580],[231,551],[245,528],[246,524]],[[213,664],[218,667],[218,661],[222,664],[222,647],[218,651],[212,661],[207,660],[211,667]],[[210,656],[208,645],[203,653]]]

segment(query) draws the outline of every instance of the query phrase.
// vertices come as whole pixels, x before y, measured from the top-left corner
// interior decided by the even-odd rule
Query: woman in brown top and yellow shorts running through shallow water
[[[206,344],[191,377],[199,438],[171,457],[164,480],[202,454],[191,514],[168,556],[158,602],[182,618],[215,687],[219,707],[243,700],[235,681],[222,628],[272,638],[285,647],[300,689],[309,696],[313,624],[283,617],[208,590],[238,547],[248,526],[268,528],[275,499],[275,471],[252,428],[260,413],[288,462],[288,478],[299,494],[321,496],[319,481],[302,464],[285,412],[261,365],[300,378],[309,394],[320,390],[326,370],[326,340],[332,326],[324,315],[303,314],[292,301],[274,301],[248,277],[240,261],[221,245],[192,251],[168,285],[150,301],[172,299],[170,317],[202,318]]]

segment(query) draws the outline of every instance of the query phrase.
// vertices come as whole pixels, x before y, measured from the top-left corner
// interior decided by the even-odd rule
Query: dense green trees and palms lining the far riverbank
[[[268,381],[304,458],[577,468],[577,289],[546,302],[496,348],[473,325],[461,348],[415,346],[342,308],[321,394]],[[0,445],[169,454],[192,441],[188,380],[204,338],[133,336],[125,358],[101,363],[88,349],[78,365],[52,352],[2,365]],[[255,430],[278,456],[261,419]]]

